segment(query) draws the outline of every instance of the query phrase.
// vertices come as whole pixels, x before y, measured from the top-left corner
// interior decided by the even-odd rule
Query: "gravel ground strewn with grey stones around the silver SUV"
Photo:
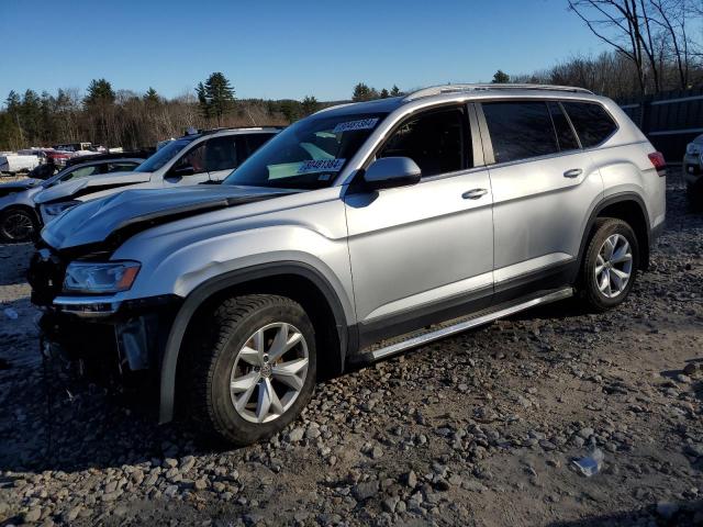
[[[32,249],[0,246],[0,524],[703,525],[703,216],[680,188],[668,205],[620,309],[561,302],[349,372],[238,450],[45,377]]]

